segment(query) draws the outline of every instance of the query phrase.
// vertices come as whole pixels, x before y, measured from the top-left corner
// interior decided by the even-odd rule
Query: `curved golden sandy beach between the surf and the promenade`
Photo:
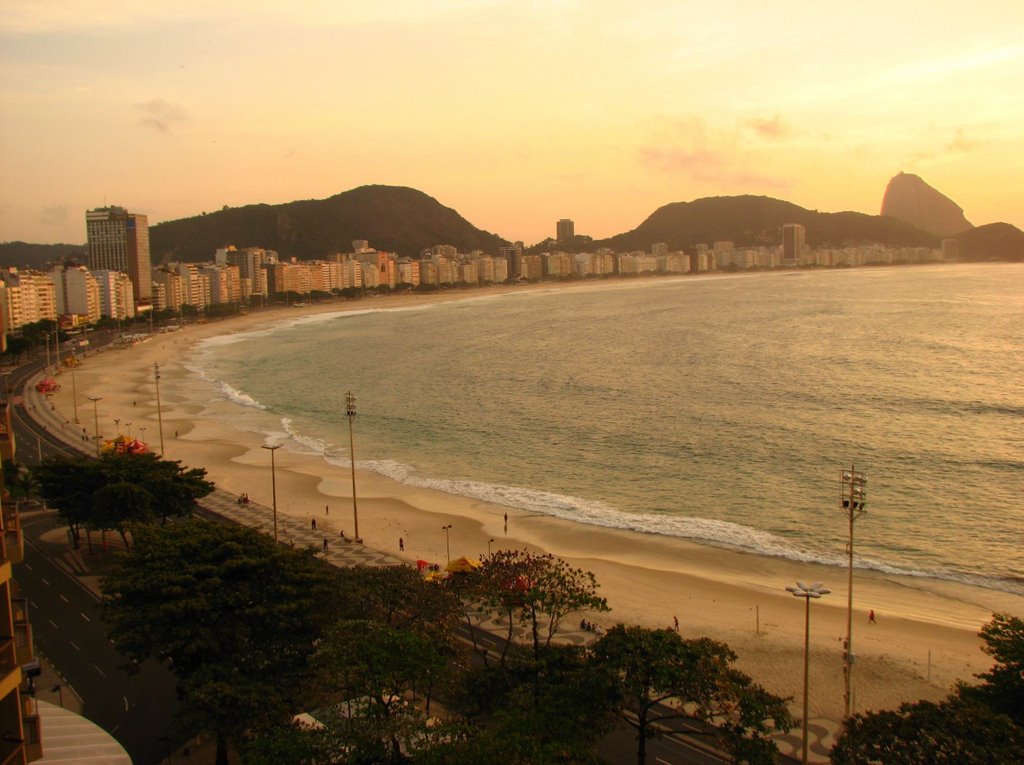
[[[552,289],[550,285],[543,289]],[[565,289],[571,289],[565,288]],[[465,299],[478,293],[409,295],[373,301],[391,308],[432,300]],[[157,335],[133,347],[111,347],[88,354],[76,372],[78,412],[88,435],[93,431],[89,395],[96,402],[99,431],[126,432],[131,422],[154,451],[161,450],[154,363],[160,364],[164,455],[203,467],[227,492],[247,493],[271,504],[269,456],[260,434],[231,430],[203,417],[213,391],[182,365],[189,346],[213,335],[252,331],[304,313],[366,309],[369,300],[281,308],[223,322],[188,326]],[[68,375],[52,403],[72,419]],[[339,408],[344,407],[343,395]],[[120,421],[115,425],[115,418]],[[356,421],[357,422],[357,421]],[[69,426],[73,427],[73,426]],[[339,433],[339,440],[347,434]],[[347,441],[346,441],[347,443]],[[358,458],[358,454],[356,454]],[[276,495],[282,534],[317,528],[336,536],[354,533],[350,472],[287,449],[275,452]],[[668,627],[678,618],[685,636],[707,635],[727,642],[739,667],[776,693],[802,702],[804,601],[784,588],[796,581],[823,582],[831,594],[811,607],[811,718],[823,723],[843,715],[842,636],[846,633],[846,570],[766,558],[689,543],[529,514],[468,498],[411,487],[378,474],[356,477],[359,534],[368,547],[410,563],[418,558],[444,561],[452,524],[452,556],[486,554],[492,549],[544,550],[594,571],[610,613],[591,614],[605,626],[624,622]],[[504,516],[508,513],[508,528]],[[836,508],[823,518],[845,518]],[[398,540],[404,551],[398,549]],[[919,698],[938,699],[956,680],[971,681],[990,666],[980,650],[979,628],[994,611],[1024,614],[1024,597],[928,579],[856,572],[854,586],[854,702],[857,710],[891,709]],[[868,624],[868,609],[877,624]],[[826,723],[827,724],[827,723]],[[828,725],[835,727],[835,724]]]

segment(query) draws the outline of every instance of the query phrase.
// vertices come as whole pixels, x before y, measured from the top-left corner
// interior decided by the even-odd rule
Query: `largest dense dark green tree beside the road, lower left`
[[[333,571],[244,526],[144,525],[103,580],[104,617],[128,658],[169,662],[183,722],[213,732],[226,765],[228,740],[302,709],[308,658],[337,611]]]

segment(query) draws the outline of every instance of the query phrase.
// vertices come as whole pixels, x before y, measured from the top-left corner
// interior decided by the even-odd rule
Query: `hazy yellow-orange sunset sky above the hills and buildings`
[[[900,171],[1024,228],[1024,2],[0,0],[0,242],[371,183],[603,239]]]

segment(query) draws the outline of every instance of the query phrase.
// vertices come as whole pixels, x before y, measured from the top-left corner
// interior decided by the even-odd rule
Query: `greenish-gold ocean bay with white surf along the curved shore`
[[[204,341],[206,416],[578,523],[1024,594],[1024,264],[388,300]],[[443,508],[439,508],[443,509]]]

